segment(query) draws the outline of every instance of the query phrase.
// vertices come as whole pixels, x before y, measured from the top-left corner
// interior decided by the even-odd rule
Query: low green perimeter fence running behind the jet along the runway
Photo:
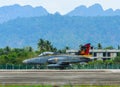
[[[0,69],[48,69],[48,67],[46,65],[5,64],[0,65]],[[65,67],[64,69],[120,69],[120,64],[92,64],[92,65],[73,64],[68,67]]]

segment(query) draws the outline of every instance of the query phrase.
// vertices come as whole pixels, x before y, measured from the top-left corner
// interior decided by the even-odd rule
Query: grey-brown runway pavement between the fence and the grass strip
[[[120,70],[0,70],[0,84],[120,85]]]

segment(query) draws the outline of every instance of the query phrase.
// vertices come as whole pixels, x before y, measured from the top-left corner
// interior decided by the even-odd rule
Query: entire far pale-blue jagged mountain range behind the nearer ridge
[[[47,10],[41,6],[32,7],[30,5],[20,6],[18,4],[11,6],[0,7],[0,23],[7,22],[16,18],[23,17],[39,17],[46,16],[51,13],[48,13]],[[56,12],[55,14],[60,14]],[[103,10],[100,4],[94,4],[90,7],[79,6],[74,10],[67,13],[65,16],[120,16],[120,9],[113,11],[113,9]]]

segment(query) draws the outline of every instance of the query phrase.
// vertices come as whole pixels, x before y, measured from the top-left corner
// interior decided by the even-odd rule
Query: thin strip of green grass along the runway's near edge
[[[70,86],[70,85],[65,85],[65,86],[57,86],[57,85],[5,85],[2,84],[0,87],[120,87],[120,85],[106,85],[106,86],[93,86],[93,85],[75,85],[75,86]]]

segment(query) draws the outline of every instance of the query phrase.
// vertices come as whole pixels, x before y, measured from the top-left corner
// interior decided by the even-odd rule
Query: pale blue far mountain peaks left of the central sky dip
[[[0,23],[12,20],[18,17],[37,17],[46,16],[49,13],[43,7],[33,8],[30,5],[20,6],[18,4],[12,6],[0,7]]]

